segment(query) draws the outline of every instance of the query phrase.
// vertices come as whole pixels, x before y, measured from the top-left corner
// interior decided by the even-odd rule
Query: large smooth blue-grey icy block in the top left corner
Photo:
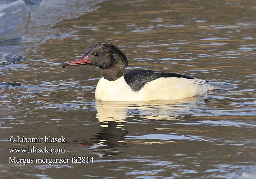
[[[9,1],[11,2],[11,1]],[[0,42],[21,37],[28,24],[28,13],[23,0],[0,4]]]

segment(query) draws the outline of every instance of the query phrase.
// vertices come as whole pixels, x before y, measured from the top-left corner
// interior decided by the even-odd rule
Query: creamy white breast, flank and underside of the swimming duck
[[[212,89],[214,87],[203,79],[161,77],[135,92],[125,82],[124,76],[116,81],[102,77],[97,84],[95,98],[102,101],[176,100],[201,95]]]

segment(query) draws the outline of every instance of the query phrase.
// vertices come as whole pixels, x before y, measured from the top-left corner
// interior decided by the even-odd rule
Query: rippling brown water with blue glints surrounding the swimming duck
[[[90,7],[46,23],[42,37],[29,35],[38,28],[31,25],[19,46],[25,60],[0,67],[1,82],[22,83],[0,86],[1,176],[255,178],[256,2],[107,1]],[[95,101],[99,69],[62,64],[102,40],[126,54],[126,72],[153,69],[237,87],[173,101]],[[63,136],[66,143],[10,143],[10,136]],[[28,146],[65,153],[8,150]],[[93,156],[94,163],[22,165],[8,163],[9,156]]]

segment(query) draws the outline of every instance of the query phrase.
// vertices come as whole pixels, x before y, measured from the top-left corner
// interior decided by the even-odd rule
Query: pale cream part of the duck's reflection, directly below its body
[[[181,100],[159,101],[98,101],[96,117],[106,127],[108,121],[124,122],[129,117],[152,120],[178,120],[184,111],[201,108],[204,97],[196,96]],[[203,105],[204,106],[204,105]]]

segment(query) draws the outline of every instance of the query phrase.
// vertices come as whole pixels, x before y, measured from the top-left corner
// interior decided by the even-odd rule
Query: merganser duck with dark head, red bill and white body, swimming
[[[95,65],[101,69],[95,98],[102,101],[176,100],[202,95],[217,89],[206,80],[183,74],[153,70],[135,70],[123,74],[127,58],[115,45],[106,42],[93,44],[76,61],[63,65]]]

